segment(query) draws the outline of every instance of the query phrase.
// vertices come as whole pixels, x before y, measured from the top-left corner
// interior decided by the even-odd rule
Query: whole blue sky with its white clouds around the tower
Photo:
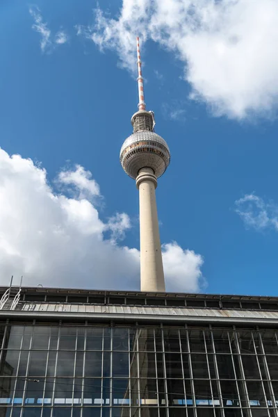
[[[138,34],[172,155],[157,188],[167,289],[277,295],[277,3],[260,20],[256,0],[253,15],[170,2],[155,16],[156,0],[1,2],[1,284],[139,288],[138,191],[119,162]]]

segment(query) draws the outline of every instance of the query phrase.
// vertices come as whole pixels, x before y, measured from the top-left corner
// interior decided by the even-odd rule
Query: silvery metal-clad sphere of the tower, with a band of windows
[[[170,163],[170,150],[161,136],[152,131],[139,131],[124,140],[120,162],[126,174],[133,179],[144,167],[152,168],[158,178]]]

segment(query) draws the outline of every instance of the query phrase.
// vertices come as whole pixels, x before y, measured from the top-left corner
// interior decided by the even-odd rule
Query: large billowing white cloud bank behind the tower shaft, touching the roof
[[[101,220],[99,186],[80,165],[56,181],[64,194],[42,167],[0,149],[0,284],[24,275],[24,285],[137,290],[139,252],[120,244],[129,216]],[[168,291],[202,288],[201,256],[168,243],[163,259]]]

